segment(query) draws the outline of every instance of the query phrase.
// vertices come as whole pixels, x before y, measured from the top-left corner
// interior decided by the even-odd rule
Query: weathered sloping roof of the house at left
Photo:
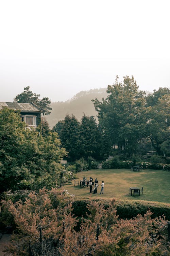
[[[33,102],[31,103],[20,103],[20,102],[0,102],[0,109],[7,107],[9,109],[21,110],[21,112],[40,112],[43,111]]]

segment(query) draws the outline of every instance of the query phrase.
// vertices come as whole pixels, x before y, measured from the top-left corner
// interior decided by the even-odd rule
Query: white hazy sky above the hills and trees
[[[0,1],[0,101],[65,101],[133,75],[170,87],[169,0]]]

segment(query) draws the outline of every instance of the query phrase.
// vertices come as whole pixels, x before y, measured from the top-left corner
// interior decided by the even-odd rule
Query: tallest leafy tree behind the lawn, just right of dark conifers
[[[124,76],[123,83],[108,85],[108,96],[102,102],[96,98],[101,128],[109,133],[112,145],[118,145],[124,153],[135,152],[135,144],[143,137],[142,123],[145,113],[145,93],[138,91],[134,77]]]

